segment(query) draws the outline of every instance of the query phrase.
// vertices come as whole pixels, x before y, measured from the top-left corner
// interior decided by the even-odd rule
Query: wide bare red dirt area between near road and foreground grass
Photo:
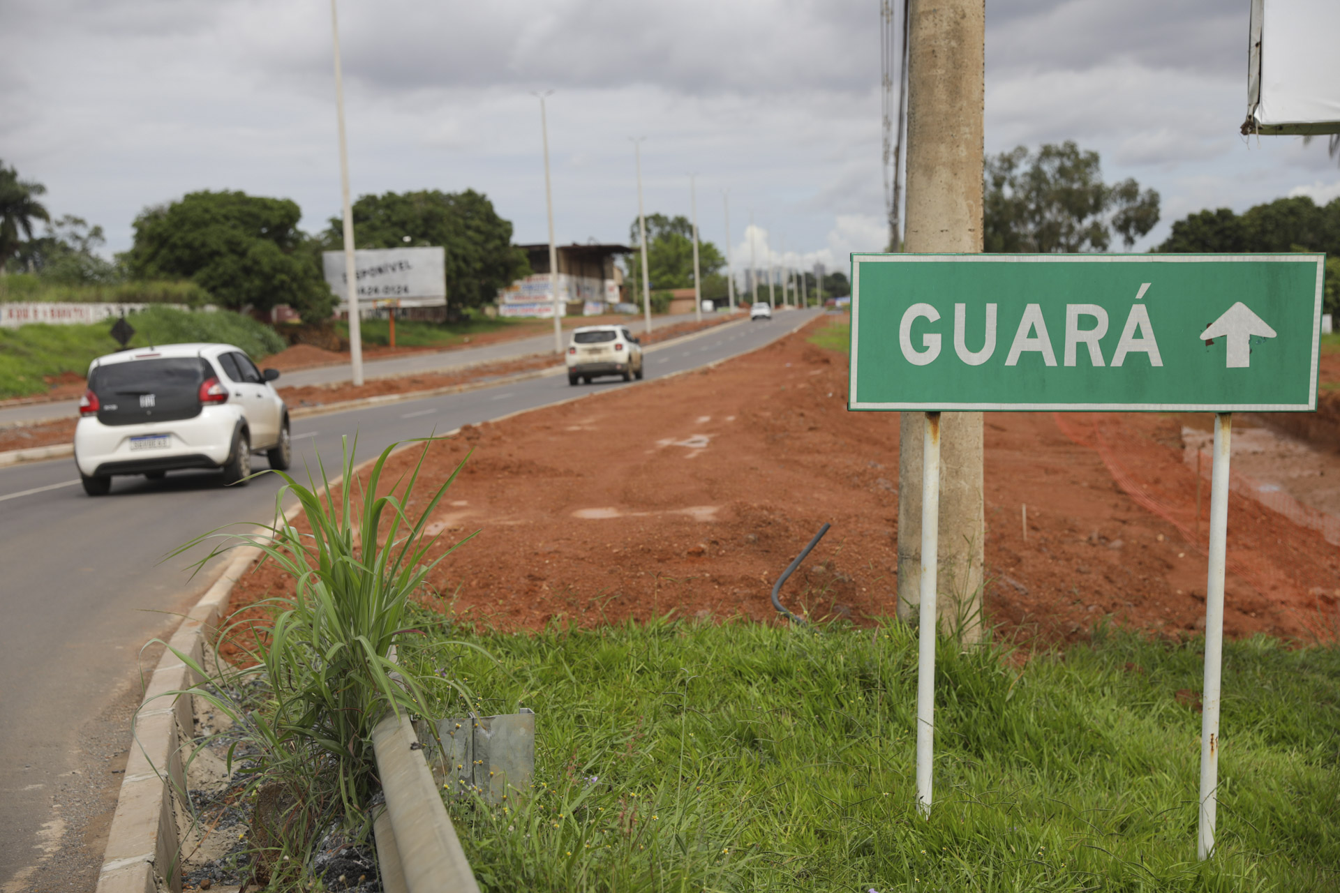
[[[775,621],[772,582],[827,521],[784,602],[856,623],[894,613],[898,416],[846,411],[846,361],[800,333],[433,444],[421,499],[473,454],[430,529],[442,548],[478,534],[438,565],[429,601],[503,629],[670,611]],[[1095,431],[1103,454],[1083,443]],[[1203,625],[1202,552],[1104,465],[1140,499],[1152,493],[1194,523],[1179,431],[1168,416],[986,416],[986,611],[998,636],[1076,640],[1106,621],[1182,637]],[[397,454],[386,479],[417,458]],[[1229,546],[1229,636],[1333,637],[1333,546],[1238,498]],[[240,581],[233,604],[287,585],[263,568]]]

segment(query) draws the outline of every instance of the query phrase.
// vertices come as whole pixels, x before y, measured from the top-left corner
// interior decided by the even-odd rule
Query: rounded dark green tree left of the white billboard
[[[334,295],[302,212],[287,198],[190,193],[145,209],[123,256],[134,278],[189,278],[234,311],[288,304],[307,321],[330,317]]]

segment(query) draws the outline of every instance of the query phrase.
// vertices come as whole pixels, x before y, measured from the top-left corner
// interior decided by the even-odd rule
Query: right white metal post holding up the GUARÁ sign
[[[1229,454],[1233,414],[1214,416],[1210,477],[1210,573],[1205,586],[1205,688],[1201,692],[1201,825],[1197,857],[1214,851],[1219,786],[1219,683],[1223,669],[1223,565],[1229,536]]]

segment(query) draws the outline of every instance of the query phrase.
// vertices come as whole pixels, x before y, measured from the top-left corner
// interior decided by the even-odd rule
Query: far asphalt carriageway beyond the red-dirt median
[[[665,328],[666,325],[677,325],[679,323],[687,323],[694,319],[693,313],[679,313],[675,316],[655,316],[651,320],[651,328]],[[570,325],[564,327],[564,339],[567,339],[567,329],[572,328]],[[580,319],[576,320],[580,324]],[[645,324],[641,317],[628,317],[628,328],[634,335],[638,335],[645,329]],[[422,372],[446,372],[449,370],[458,370],[466,366],[478,366],[480,363],[498,363],[501,360],[515,360],[521,356],[531,356],[533,353],[548,353],[553,349],[553,332],[545,332],[544,335],[532,335],[529,337],[519,337],[508,341],[496,341],[493,344],[482,344],[480,347],[454,347],[448,351],[423,351],[421,353],[407,353],[405,356],[394,356],[382,360],[368,360],[363,364],[363,378],[364,379],[385,379],[395,378],[399,375],[417,375]],[[352,370],[348,363],[336,363],[335,366],[322,366],[315,370],[297,370],[296,372],[287,372],[281,379],[284,386],[292,387],[306,387],[308,384],[338,384],[340,382],[348,382],[352,379]],[[48,419],[67,419],[79,411],[79,400],[60,400],[55,403],[20,403],[17,406],[0,407],[0,427],[8,424],[35,424]]]

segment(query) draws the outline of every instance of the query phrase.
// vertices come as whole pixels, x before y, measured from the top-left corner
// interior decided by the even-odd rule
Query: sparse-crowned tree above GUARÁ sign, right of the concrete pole
[[[1156,191],[1104,183],[1097,153],[1071,141],[989,155],[984,179],[988,252],[1106,252],[1114,230],[1130,249],[1159,222]]]

